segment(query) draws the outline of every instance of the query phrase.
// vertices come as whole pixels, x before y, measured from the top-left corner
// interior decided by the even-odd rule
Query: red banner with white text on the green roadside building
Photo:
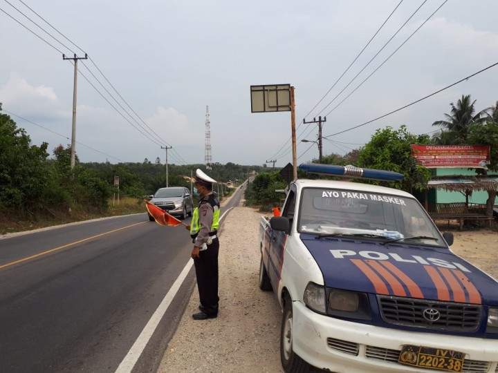
[[[410,145],[418,164],[434,168],[462,167],[487,169],[489,145]]]

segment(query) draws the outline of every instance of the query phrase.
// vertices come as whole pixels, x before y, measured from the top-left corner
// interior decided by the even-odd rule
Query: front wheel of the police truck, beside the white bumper
[[[311,365],[306,363],[293,351],[293,312],[292,300],[289,296],[285,298],[284,314],[282,316],[282,327],[280,328],[280,361],[286,373],[306,373]]]

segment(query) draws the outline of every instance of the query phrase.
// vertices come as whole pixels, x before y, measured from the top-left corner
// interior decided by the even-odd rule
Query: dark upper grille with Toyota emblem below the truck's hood
[[[459,332],[474,332],[481,324],[480,305],[395,296],[377,296],[377,299],[382,319],[389,324]]]

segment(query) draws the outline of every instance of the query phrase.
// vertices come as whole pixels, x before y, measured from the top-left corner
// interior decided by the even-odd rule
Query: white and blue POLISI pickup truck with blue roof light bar
[[[298,179],[260,235],[259,287],[283,309],[285,372],[498,373],[498,283],[450,250],[452,233],[441,235],[411,194]]]

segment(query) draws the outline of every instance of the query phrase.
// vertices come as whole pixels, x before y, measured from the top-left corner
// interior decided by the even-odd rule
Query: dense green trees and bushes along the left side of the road
[[[220,184],[216,193],[224,198],[249,173],[261,166],[212,164],[165,165],[159,158],[137,163],[82,163],[71,147],[59,145],[49,153],[48,144],[33,145],[24,128],[18,128],[0,104],[0,234],[37,229],[129,213],[145,212],[144,198],[160,187],[191,187],[196,169],[203,169]],[[115,185],[116,177],[119,186]],[[119,202],[118,202],[119,201]]]

